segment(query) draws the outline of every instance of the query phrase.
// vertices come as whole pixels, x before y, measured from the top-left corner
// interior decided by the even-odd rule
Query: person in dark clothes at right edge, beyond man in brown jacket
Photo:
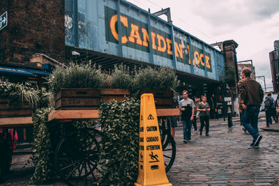
[[[276,118],[275,104],[275,100],[271,97],[271,93],[267,93],[264,100],[264,110],[266,111],[266,127],[269,127],[269,125],[272,124],[272,118],[275,123],[278,123],[278,119]]]

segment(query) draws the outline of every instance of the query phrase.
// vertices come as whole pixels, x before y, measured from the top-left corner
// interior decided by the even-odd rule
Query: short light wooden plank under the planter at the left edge
[[[0,118],[0,127],[30,127],[32,117]]]

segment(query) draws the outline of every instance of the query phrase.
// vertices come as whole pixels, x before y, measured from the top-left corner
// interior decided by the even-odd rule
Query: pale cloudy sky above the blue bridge
[[[234,40],[237,61],[252,60],[256,77],[264,76],[266,87],[273,87],[269,52],[279,40],[279,0],[127,1],[151,13],[169,7],[172,24],[208,44]],[[257,81],[264,88],[264,81]]]

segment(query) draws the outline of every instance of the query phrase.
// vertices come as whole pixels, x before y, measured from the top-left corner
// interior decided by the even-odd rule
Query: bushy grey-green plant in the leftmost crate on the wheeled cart
[[[56,67],[47,78],[50,89],[56,93],[60,88],[101,88],[106,85],[106,79],[100,67],[89,63],[74,64],[68,67]]]

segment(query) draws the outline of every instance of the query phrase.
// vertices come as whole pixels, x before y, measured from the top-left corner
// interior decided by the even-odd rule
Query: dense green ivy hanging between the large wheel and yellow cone
[[[114,185],[133,185],[138,172],[140,101],[133,98],[122,102],[100,104],[100,125],[105,139],[101,141],[102,169]]]

